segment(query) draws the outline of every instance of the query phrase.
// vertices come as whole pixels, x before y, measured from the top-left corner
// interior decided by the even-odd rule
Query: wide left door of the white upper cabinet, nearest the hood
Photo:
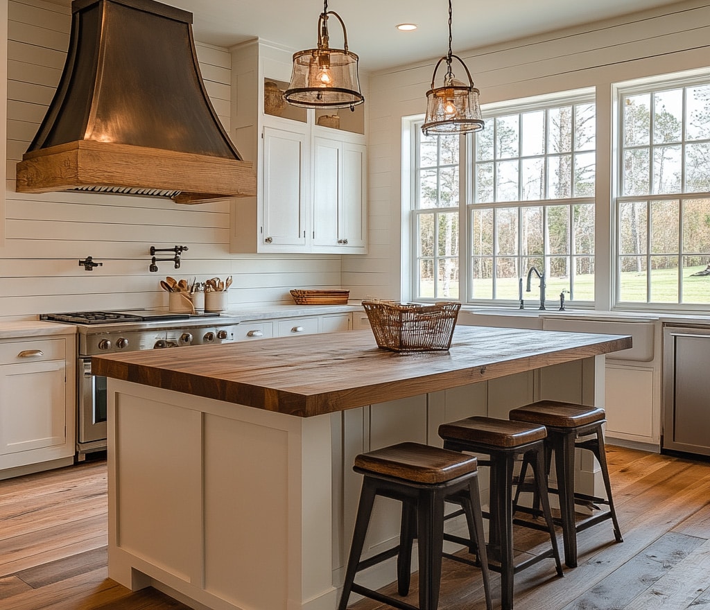
[[[264,127],[262,251],[306,244],[307,136]],[[278,250],[278,248],[276,248]]]

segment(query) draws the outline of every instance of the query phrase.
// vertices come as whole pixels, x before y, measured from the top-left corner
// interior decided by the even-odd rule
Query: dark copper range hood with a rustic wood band
[[[75,0],[64,72],[17,165],[18,192],[82,190],[201,203],[256,195],[204,89],[192,13]]]

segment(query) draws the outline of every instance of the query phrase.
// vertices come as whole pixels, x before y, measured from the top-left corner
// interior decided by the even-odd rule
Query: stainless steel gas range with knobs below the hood
[[[71,312],[40,320],[77,327],[77,459],[106,449],[106,378],[92,374],[91,356],[138,349],[233,342],[239,320],[219,314],[153,310]]]

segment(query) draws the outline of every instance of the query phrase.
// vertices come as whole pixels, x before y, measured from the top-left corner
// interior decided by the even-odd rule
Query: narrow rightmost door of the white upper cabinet
[[[364,248],[367,244],[365,151],[363,144],[343,143],[339,239],[348,248]]]

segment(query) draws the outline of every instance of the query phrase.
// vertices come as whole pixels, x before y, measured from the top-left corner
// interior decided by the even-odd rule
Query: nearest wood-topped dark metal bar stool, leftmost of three
[[[474,528],[476,550],[481,560],[481,574],[486,596],[486,610],[491,610],[491,592],[486,560],[483,517],[476,469],[476,458],[469,455],[403,442],[369,453],[359,454],[353,467],[364,474],[360,503],[355,520],[353,541],[345,573],[339,610],[345,610],[351,592],[376,599],[396,608],[412,610],[415,606],[381,594],[354,582],[360,570],[397,556],[398,593],[409,592],[412,545],[419,539],[419,609],[436,610],[444,543],[444,497],[462,493],[469,498],[472,511],[466,518]],[[402,502],[400,544],[361,561],[365,535],[376,496]],[[481,543],[478,543],[481,541]]]

